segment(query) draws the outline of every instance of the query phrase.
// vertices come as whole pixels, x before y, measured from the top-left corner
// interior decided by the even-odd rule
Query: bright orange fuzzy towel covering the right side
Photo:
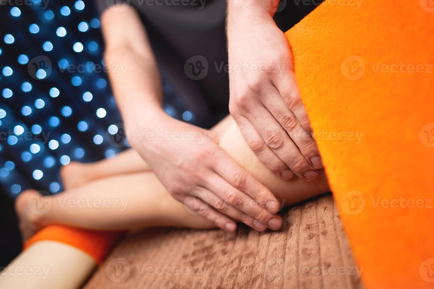
[[[351,3],[286,32],[302,100],[365,287],[433,288],[434,6]]]

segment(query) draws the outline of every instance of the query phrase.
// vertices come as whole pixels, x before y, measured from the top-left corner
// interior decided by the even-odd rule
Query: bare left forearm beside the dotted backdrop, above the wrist
[[[157,62],[136,11],[106,10],[101,17],[105,40],[104,60],[108,67],[122,67],[123,73],[109,72],[116,103],[127,125],[139,116],[163,113],[162,88]],[[125,29],[128,27],[128,29]]]

